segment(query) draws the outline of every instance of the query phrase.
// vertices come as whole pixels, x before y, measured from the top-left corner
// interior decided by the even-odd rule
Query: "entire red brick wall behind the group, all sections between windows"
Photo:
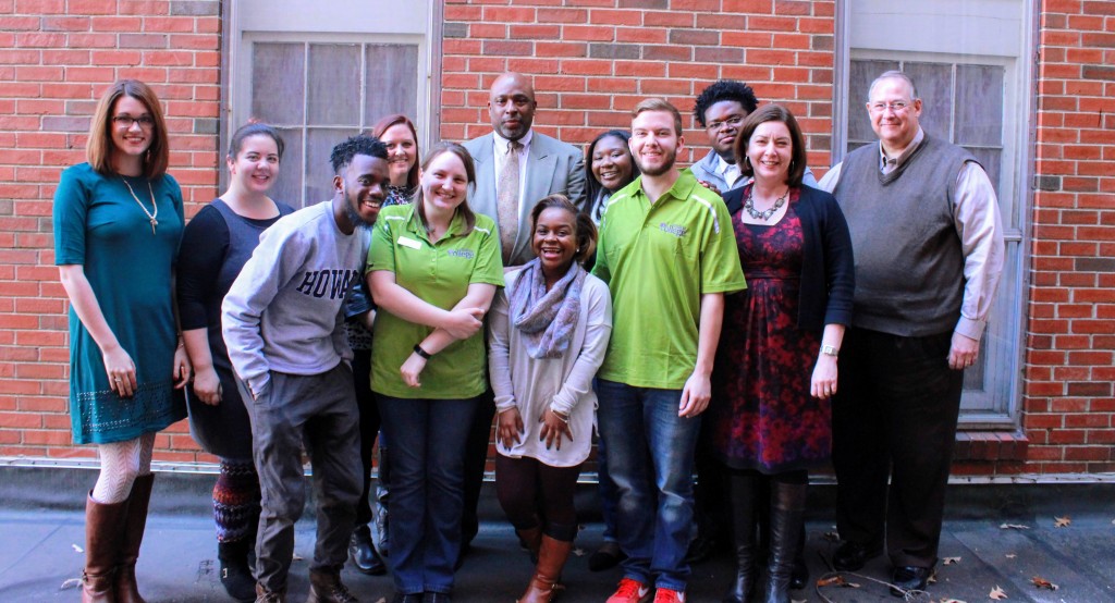
[[[830,163],[834,11],[834,1],[804,0],[447,0],[440,134],[488,132],[486,90],[511,69],[537,76],[539,129],[571,143],[628,127],[644,97],[668,98],[686,114],[689,162],[707,148],[689,115],[694,97],[735,78],[792,108],[820,175]],[[1115,470],[1115,3],[1046,0],[1041,11],[1024,350],[1030,445],[970,435],[960,446],[972,457],[993,448],[1004,460],[958,473]],[[212,197],[220,28],[209,0],[0,0],[0,456],[93,455],[69,445],[50,198],[60,169],[83,161],[97,95],[118,77],[155,85],[172,173],[187,201]],[[158,447],[161,459],[207,459],[184,424]]]

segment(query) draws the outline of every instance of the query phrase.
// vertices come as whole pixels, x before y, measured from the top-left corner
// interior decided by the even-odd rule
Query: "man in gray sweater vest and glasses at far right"
[[[895,596],[923,590],[937,564],[963,369],[1004,262],[987,173],[921,129],[921,106],[905,74],[881,75],[867,100],[879,144],[821,181],[847,218],[856,270],[833,401],[844,541],[833,564],[859,570],[885,544]]]

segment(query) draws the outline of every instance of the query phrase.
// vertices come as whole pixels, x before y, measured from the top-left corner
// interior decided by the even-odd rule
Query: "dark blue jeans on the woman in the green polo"
[[[477,398],[376,395],[391,441],[391,572],[404,594],[449,593],[460,552],[465,441]]]

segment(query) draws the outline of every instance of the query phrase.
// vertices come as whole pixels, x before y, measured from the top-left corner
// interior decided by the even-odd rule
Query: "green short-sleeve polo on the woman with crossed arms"
[[[476,215],[476,225],[462,234],[458,214],[436,243],[430,242],[414,205],[392,205],[379,212],[368,250],[368,271],[387,270],[395,282],[423,301],[449,310],[473,283],[503,286],[500,236],[495,222]],[[405,321],[382,308],[372,329],[371,389],[394,398],[454,399],[484,392],[487,354],[484,332],[455,341],[426,363],[421,387],[403,382],[399,367],[415,343],[433,331],[425,324]]]

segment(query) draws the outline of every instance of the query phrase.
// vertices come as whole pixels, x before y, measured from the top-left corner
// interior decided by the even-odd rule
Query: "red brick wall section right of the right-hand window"
[[[1115,471],[1115,2],[1046,0],[1038,43],[1027,470]]]

